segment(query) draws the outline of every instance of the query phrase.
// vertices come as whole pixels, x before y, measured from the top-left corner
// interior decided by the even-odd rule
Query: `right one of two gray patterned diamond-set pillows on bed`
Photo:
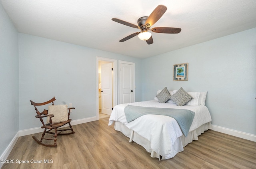
[[[183,106],[186,104],[188,101],[193,99],[191,95],[189,95],[182,87],[176,93],[174,93],[170,99],[176,103],[178,106]]]

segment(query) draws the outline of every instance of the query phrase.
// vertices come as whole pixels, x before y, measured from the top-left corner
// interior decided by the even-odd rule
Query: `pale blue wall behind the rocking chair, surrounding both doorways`
[[[40,126],[30,100],[41,103],[55,96],[55,104],[76,108],[72,120],[96,117],[97,56],[135,62],[136,101],[141,101],[140,59],[19,33],[19,130]]]

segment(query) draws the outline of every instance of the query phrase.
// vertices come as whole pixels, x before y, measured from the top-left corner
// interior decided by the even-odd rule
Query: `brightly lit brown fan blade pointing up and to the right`
[[[164,14],[164,12],[166,12],[166,10],[167,10],[166,6],[158,5],[156,9],[154,9],[154,11],[150,14],[150,16],[148,16],[148,19],[146,20],[146,26],[150,27],[154,23],[156,23],[156,21],[158,21],[162,17],[162,15]]]

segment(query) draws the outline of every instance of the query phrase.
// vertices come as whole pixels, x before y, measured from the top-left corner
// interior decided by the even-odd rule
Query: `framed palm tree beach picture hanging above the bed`
[[[173,65],[173,81],[188,80],[188,63]]]

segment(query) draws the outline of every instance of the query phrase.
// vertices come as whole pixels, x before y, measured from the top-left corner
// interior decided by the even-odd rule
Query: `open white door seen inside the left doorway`
[[[113,105],[112,63],[101,66],[101,113],[110,115]]]

